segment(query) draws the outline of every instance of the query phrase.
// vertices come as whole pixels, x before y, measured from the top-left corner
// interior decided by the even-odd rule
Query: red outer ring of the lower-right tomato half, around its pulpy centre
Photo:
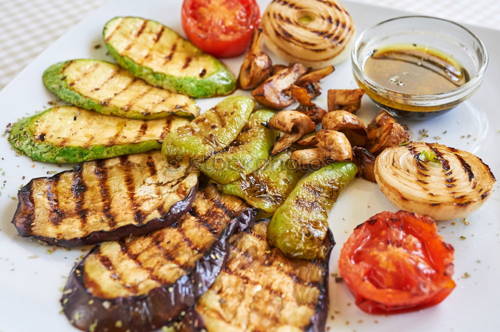
[[[419,239],[425,246],[424,252],[429,255],[428,263],[437,271],[435,278],[429,280],[421,291],[376,287],[356,266],[364,264],[366,268],[368,262],[356,264],[354,252],[369,241],[371,234],[378,232],[374,235],[376,237],[380,230],[391,227]],[[379,213],[357,226],[340,251],[338,267],[359,309],[368,314],[398,314],[434,306],[444,300],[455,287],[451,279],[452,261],[453,247],[442,241],[431,218],[398,211]]]

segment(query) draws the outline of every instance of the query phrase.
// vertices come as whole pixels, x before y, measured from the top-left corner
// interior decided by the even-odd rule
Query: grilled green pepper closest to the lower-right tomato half
[[[322,258],[328,213],[340,191],[354,178],[350,162],[333,163],[302,179],[276,210],[267,229],[267,242],[286,256]]]

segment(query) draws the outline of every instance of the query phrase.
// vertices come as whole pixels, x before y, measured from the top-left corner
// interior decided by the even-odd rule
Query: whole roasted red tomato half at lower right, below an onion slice
[[[382,212],[357,226],[338,267],[356,305],[369,314],[430,307],[455,287],[453,247],[431,218],[406,211]]]

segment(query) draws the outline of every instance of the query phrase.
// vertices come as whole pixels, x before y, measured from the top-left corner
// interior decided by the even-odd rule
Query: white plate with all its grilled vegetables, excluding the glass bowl
[[[109,1],[0,91],[0,331],[491,331],[488,78],[394,118],[344,59],[399,13],[208,2]]]

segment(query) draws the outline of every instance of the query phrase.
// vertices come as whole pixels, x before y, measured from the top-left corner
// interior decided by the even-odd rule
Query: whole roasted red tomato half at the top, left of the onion
[[[217,57],[236,56],[260,22],[255,0],[184,0],[182,27],[196,46]]]

